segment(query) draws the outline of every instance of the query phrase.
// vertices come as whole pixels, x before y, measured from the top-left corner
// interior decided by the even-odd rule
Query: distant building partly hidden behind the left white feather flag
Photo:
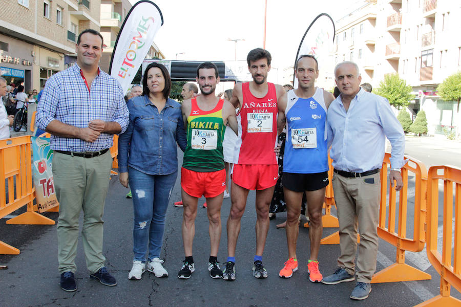
[[[100,32],[104,38],[104,45],[106,47],[102,50],[99,67],[105,72],[109,72],[109,65],[118,32],[131,8],[132,5],[128,0],[101,0]],[[165,58],[158,46],[153,42],[146,58],[154,57]]]

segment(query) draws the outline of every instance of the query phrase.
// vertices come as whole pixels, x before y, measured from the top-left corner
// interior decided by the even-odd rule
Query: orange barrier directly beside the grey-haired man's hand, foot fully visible
[[[409,280],[431,279],[431,275],[405,264],[405,251],[421,252],[425,245],[424,223],[426,221],[426,184],[427,171],[424,164],[410,158],[402,167],[403,188],[399,191],[399,206],[397,211],[396,191],[389,186],[389,201],[387,201],[387,187],[390,184],[387,170],[390,167],[390,153],[385,154],[381,168],[381,204],[378,222],[378,235],[397,249],[395,263],[386,269],[375,273],[371,279],[375,282],[395,282]],[[409,157],[406,157],[409,158]],[[408,198],[413,193],[408,189],[408,171],[414,174],[414,222],[413,237],[407,237]],[[411,209],[411,208],[410,208]],[[398,220],[396,221],[396,215]],[[387,221],[386,221],[387,216]],[[397,229],[396,229],[397,228]]]

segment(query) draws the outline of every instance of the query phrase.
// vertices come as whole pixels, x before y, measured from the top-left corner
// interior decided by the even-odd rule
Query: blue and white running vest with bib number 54
[[[308,99],[288,92],[285,117],[287,133],[283,172],[319,173],[328,170],[326,106],[323,90]]]

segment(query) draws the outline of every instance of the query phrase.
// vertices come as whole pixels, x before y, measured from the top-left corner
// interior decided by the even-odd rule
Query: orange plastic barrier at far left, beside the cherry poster
[[[54,225],[54,221],[33,210],[30,136],[0,140],[0,218],[27,205],[27,211],[10,218],[7,224]],[[8,181],[8,203],[6,184]],[[19,254],[19,250],[0,241],[0,254]]]

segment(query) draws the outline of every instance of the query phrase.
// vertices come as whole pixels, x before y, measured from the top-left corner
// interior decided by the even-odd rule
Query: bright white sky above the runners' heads
[[[246,60],[263,47],[264,0],[152,0],[161,10],[163,26],[154,42],[169,60]],[[136,0],[130,0],[135,4]],[[299,43],[320,13],[337,20],[364,1],[267,0],[266,50],[273,58],[272,75],[295,61]],[[228,39],[244,39],[236,43]],[[270,81],[270,80],[269,80]],[[274,80],[277,81],[277,80]]]

